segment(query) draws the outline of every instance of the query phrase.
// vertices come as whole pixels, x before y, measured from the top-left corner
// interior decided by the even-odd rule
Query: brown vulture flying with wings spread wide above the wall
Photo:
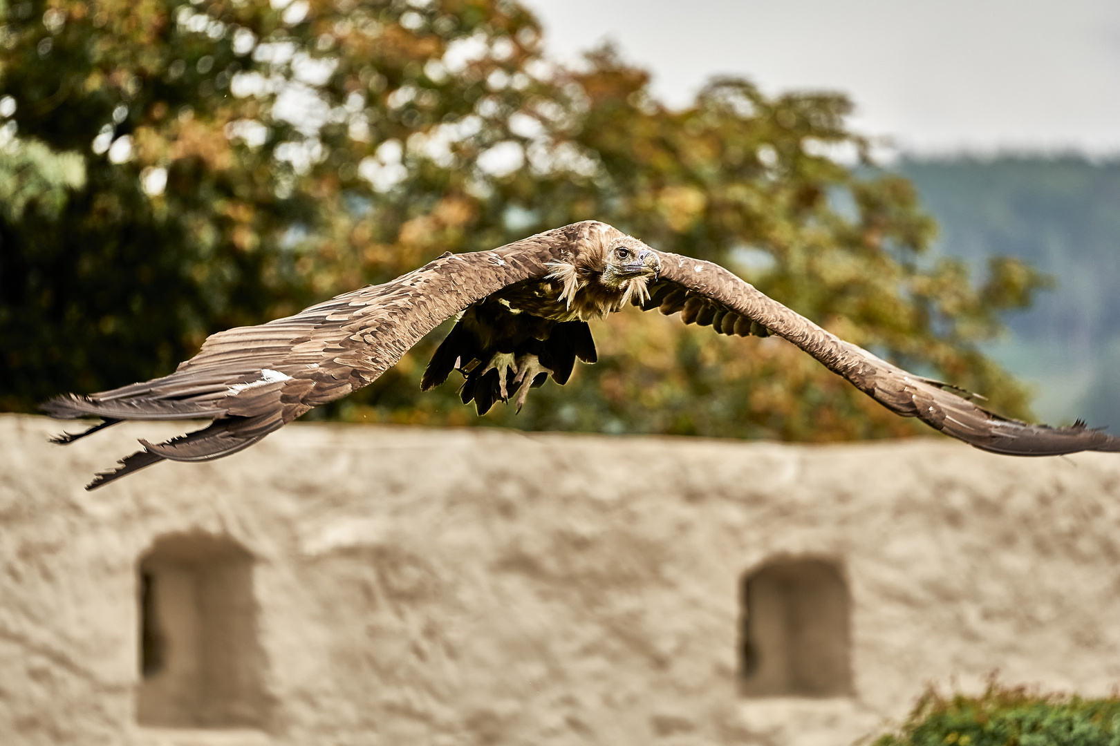
[[[464,377],[461,399],[485,413],[549,377],[563,384],[576,359],[595,362],[588,321],[633,304],[680,313],[720,334],[776,334],[847,378],[892,412],[917,417],[978,448],[1011,455],[1120,452],[1120,437],[1086,427],[1030,425],[981,408],[948,384],[915,376],[846,342],[769,299],[724,267],[659,252],[595,220],[530,236],[493,251],[447,253],[419,270],[256,327],[212,334],[162,378],[100,394],[57,396],[52,417],[100,417],[71,443],[125,419],[212,419],[209,426],[142,450],[99,473],[95,489],[159,461],[211,461],[236,453],[375,380],[424,334],[455,327],[424,370],[421,387]]]

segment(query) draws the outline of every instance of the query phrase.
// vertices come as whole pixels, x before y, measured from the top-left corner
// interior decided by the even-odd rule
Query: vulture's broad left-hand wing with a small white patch
[[[241,451],[319,404],[346,396],[394,366],[445,320],[513,283],[548,274],[545,264],[582,238],[586,224],[472,254],[445,254],[382,285],[344,293],[256,327],[212,334],[169,376],[43,405],[63,419],[214,418],[166,443],[141,443],[87,489],[164,459],[206,461]],[[87,431],[93,432],[93,431]],[[85,435],[67,435],[69,442]]]

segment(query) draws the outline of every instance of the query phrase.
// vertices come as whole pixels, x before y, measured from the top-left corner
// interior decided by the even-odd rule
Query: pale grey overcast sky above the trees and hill
[[[524,0],[568,59],[610,38],[683,105],[715,74],[837,89],[909,151],[1120,153],[1120,0]]]

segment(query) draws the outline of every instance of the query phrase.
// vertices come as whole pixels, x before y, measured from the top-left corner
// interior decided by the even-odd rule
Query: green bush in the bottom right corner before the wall
[[[927,691],[874,746],[1120,746],[1120,698],[1081,699],[991,682],[983,695]]]

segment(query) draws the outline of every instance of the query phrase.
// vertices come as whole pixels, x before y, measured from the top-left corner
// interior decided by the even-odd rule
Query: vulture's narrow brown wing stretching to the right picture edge
[[[680,311],[684,323],[711,324],[725,334],[783,337],[892,412],[984,451],[1020,456],[1120,452],[1120,437],[1080,421],[1049,427],[1000,417],[958,396],[952,386],[909,374],[829,333],[717,264],[659,255],[660,280],[650,286],[650,298],[637,303],[643,310]]]

